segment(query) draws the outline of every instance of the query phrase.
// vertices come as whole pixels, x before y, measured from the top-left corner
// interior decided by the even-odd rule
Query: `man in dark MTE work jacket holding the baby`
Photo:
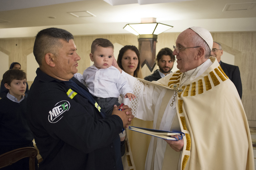
[[[95,102],[73,75],[77,72],[74,37],[47,28],[36,35],[39,64],[27,98],[31,131],[43,161],[41,170],[122,170],[119,133],[131,124],[131,108],[114,106],[112,115]]]

